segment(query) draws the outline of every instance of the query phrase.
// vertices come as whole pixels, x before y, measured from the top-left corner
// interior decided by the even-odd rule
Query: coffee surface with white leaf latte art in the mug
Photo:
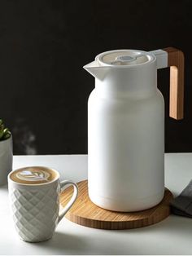
[[[46,167],[25,167],[15,170],[11,174],[11,179],[17,183],[39,184],[48,183],[57,178],[54,170]]]

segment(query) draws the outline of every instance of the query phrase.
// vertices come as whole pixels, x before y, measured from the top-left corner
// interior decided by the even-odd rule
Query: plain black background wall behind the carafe
[[[192,1],[1,1],[0,117],[15,154],[87,152],[87,99],[94,78],[82,68],[100,52],[185,53],[185,119],[168,117],[169,70],[159,70],[166,103],[166,152],[192,152]]]

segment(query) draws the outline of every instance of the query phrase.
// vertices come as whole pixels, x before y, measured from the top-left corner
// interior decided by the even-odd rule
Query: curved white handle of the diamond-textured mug
[[[61,219],[64,217],[64,215],[67,214],[68,210],[72,207],[72,205],[76,201],[76,197],[78,196],[78,187],[77,187],[76,183],[73,183],[72,181],[69,181],[69,180],[63,180],[60,182],[61,192],[63,192],[66,189],[65,186],[68,184],[72,184],[74,191],[72,194],[72,198],[70,199],[70,201],[68,201],[68,204],[65,205],[65,207],[59,214],[58,223],[61,221]]]

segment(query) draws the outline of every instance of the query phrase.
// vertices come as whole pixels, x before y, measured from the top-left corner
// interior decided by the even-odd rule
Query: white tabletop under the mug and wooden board
[[[87,178],[87,156],[15,156],[14,169],[49,166],[62,179]],[[192,179],[192,153],[165,155],[165,185],[174,195]],[[83,227],[64,218],[50,241],[27,243],[15,233],[7,186],[0,187],[0,254],[192,254],[192,219],[171,215],[161,223],[132,230]]]

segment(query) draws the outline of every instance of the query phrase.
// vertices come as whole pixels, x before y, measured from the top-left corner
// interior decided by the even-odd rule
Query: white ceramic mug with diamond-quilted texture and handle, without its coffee
[[[8,175],[9,200],[11,214],[15,223],[15,229],[23,241],[40,242],[49,240],[63,216],[72,207],[78,195],[76,183],[69,180],[59,181],[59,172],[42,166],[21,168],[39,168],[51,170],[55,173],[55,179],[47,183],[18,183],[11,179],[11,171]],[[59,213],[59,193],[63,192],[66,185],[72,185],[73,195],[68,204]]]

